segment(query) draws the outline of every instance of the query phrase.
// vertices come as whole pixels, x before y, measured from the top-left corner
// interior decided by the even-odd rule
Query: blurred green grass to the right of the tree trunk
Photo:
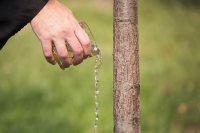
[[[199,10],[145,2],[139,4],[143,132],[200,132]]]

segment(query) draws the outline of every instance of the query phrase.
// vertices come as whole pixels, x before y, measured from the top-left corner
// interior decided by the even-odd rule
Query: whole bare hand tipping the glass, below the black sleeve
[[[44,8],[33,18],[31,26],[41,41],[46,60],[55,64],[52,44],[55,45],[63,67],[80,64],[91,53],[88,35],[81,28],[70,9],[57,0],[49,0]],[[66,44],[72,49],[70,60]]]

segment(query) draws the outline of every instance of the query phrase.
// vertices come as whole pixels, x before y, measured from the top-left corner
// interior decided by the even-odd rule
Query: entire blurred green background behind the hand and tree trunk
[[[65,1],[102,50],[99,133],[113,132],[112,1]],[[200,2],[139,0],[143,133],[200,133]],[[0,133],[92,133],[94,58],[62,71],[30,27],[0,52]]]

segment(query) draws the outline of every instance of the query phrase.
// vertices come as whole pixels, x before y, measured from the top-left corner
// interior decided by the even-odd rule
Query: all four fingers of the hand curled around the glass
[[[42,41],[44,56],[46,60],[51,64],[56,63],[54,55],[52,53],[53,44],[56,47],[56,52],[59,56],[59,60],[61,62],[60,64],[63,68],[67,68],[71,64],[80,64],[83,59],[87,58],[91,53],[91,44],[89,37],[80,26],[75,30],[75,32],[72,32],[71,34],[65,36],[65,39],[57,37],[53,41]],[[69,52],[72,52],[73,59],[72,57],[70,57],[71,53]]]

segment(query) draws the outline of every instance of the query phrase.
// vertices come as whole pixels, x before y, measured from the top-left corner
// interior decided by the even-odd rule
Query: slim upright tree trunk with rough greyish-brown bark
[[[114,133],[140,133],[137,0],[114,0]]]

